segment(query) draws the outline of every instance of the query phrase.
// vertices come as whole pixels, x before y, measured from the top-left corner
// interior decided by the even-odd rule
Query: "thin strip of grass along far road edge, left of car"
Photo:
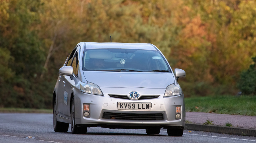
[[[53,113],[53,109],[0,108],[0,113]]]

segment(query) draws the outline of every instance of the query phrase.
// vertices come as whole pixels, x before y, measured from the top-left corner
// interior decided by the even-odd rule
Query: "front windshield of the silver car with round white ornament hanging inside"
[[[170,72],[159,51],[138,49],[88,49],[83,71]]]

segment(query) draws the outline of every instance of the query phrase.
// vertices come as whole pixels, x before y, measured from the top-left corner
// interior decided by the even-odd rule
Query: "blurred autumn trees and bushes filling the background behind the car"
[[[255,8],[255,0],[0,0],[0,107],[52,108],[75,44],[110,36],[156,45],[173,70],[186,71],[186,97],[256,94]],[[239,112],[231,114],[255,114]]]

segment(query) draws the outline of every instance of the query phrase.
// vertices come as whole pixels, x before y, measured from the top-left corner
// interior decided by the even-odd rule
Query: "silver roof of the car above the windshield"
[[[155,50],[158,49],[149,43],[97,43],[97,42],[84,42],[85,49],[144,49],[144,50]]]

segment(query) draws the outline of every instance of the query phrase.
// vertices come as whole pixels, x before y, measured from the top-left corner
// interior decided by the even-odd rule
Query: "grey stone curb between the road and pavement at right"
[[[247,128],[235,128],[235,127],[225,127],[225,126],[216,126],[216,125],[202,125],[202,124],[186,123],[184,129],[205,131],[205,132],[224,133],[224,134],[233,134],[233,135],[256,136],[256,129],[247,129]]]

